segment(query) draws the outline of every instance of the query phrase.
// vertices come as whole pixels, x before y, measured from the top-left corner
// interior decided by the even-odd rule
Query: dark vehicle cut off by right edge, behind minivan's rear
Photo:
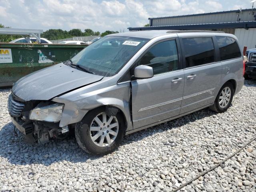
[[[248,50],[247,55],[244,78],[256,79],[256,48]]]

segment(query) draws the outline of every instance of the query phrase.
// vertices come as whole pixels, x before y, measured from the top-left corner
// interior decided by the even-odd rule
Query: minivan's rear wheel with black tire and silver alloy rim
[[[215,102],[210,106],[210,110],[222,113],[225,112],[231,105],[234,96],[234,88],[230,82],[227,82],[220,88]]]

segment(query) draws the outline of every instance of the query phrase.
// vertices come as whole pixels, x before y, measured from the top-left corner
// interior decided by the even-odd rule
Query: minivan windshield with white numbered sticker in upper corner
[[[84,48],[72,63],[101,76],[113,76],[148,42],[135,37],[106,36]]]

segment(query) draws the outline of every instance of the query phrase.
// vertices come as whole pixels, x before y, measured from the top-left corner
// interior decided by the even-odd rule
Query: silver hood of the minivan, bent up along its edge
[[[50,100],[70,90],[100,81],[103,76],[77,70],[65,64],[57,64],[33,72],[12,87],[12,92],[25,101]]]

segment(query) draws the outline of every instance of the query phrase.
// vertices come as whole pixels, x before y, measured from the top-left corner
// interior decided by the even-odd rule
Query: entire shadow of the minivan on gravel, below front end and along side
[[[141,130],[125,136],[121,146],[125,146],[130,142],[137,142],[138,140],[142,140],[156,133],[180,128],[185,124],[214,114],[216,113],[204,109]],[[118,153],[118,150],[116,150],[116,153]],[[62,162],[63,164],[68,164],[69,162],[83,163],[96,160],[102,156],[94,156],[84,152],[78,146],[74,136],[70,136],[64,140],[51,140],[46,144],[31,144],[24,139],[23,135],[17,129],[14,130],[14,125],[12,122],[9,122],[0,130],[0,157],[2,157],[2,161],[4,160],[3,158],[5,158],[6,161],[14,165],[44,164],[45,166],[50,166],[56,162]]]

